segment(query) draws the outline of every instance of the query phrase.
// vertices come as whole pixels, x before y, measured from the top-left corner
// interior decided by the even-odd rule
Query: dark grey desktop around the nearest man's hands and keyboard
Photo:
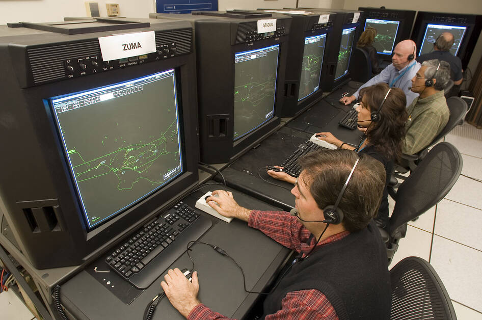
[[[187,196],[183,201],[194,207],[200,196],[216,189],[229,190],[222,185],[210,185]],[[233,191],[233,194],[240,205],[263,210],[278,209],[240,192]],[[248,227],[245,222],[234,219],[228,224],[217,218],[212,218],[212,222],[213,226],[199,240],[223,248],[243,267],[248,290],[260,291],[271,283],[290,251],[260,231]],[[191,256],[199,276],[199,299],[226,316],[242,318],[258,295],[244,291],[242,274],[237,266],[229,258],[203,244],[195,244]],[[90,266],[87,266],[86,270]],[[170,268],[192,270],[193,267],[184,253]],[[106,266],[98,266],[98,269],[107,270]],[[126,305],[108,289],[109,286],[117,285],[116,281],[120,281],[120,278],[114,277],[114,273],[105,273],[105,280],[97,281],[86,270],[67,281],[61,288],[62,304],[80,319],[141,319],[147,304],[159,292],[159,283],[165,274],[159,270],[159,278],[141,292],[136,300]],[[166,318],[183,317],[171,306],[169,300],[164,298],[157,305],[153,319]]]

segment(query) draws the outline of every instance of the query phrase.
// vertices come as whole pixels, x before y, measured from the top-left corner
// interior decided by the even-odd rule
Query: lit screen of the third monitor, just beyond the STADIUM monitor
[[[326,33],[305,38],[298,101],[311,95],[319,88],[326,39]]]

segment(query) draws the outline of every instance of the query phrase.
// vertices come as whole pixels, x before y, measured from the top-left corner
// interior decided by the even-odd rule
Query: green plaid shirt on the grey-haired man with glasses
[[[423,99],[416,97],[407,112],[410,116],[405,124],[405,154],[414,154],[427,147],[445,127],[450,116],[443,91]]]

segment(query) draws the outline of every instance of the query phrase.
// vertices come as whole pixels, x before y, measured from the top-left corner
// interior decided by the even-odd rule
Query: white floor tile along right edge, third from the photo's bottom
[[[442,199],[437,205],[435,234],[482,251],[482,210]]]

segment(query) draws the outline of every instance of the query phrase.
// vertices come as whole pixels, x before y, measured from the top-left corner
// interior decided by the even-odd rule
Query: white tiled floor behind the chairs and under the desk
[[[482,130],[464,124],[447,135],[445,141],[462,153],[462,173],[482,180]],[[481,182],[461,176],[445,199],[410,223],[391,264],[407,256],[429,261],[461,320],[482,320],[481,195]],[[5,319],[34,318],[11,291],[0,294],[0,308]]]

